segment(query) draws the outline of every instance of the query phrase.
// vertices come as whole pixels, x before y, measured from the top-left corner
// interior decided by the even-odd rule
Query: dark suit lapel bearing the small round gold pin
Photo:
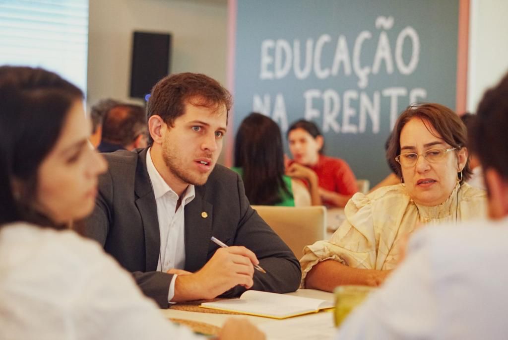
[[[185,270],[199,270],[207,261],[212,237],[213,205],[205,201],[205,187],[185,206]]]

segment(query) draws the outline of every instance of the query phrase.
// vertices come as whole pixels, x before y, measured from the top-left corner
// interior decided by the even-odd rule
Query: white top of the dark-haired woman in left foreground
[[[0,229],[0,338],[200,337],[165,319],[97,242],[16,223]]]

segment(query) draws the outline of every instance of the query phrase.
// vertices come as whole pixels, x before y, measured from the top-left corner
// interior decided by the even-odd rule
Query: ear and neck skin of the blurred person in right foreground
[[[484,173],[489,202],[489,217],[493,220],[502,219],[508,215],[508,181],[494,169],[489,168]]]

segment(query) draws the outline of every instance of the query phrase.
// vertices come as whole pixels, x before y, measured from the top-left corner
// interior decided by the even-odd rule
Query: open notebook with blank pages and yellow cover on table
[[[284,319],[332,308],[333,302],[309,297],[248,290],[238,299],[205,302],[201,307],[229,312]]]

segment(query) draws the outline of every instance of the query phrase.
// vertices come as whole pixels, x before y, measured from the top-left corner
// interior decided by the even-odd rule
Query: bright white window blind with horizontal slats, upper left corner
[[[88,0],[0,0],[0,65],[42,67],[86,91]]]

